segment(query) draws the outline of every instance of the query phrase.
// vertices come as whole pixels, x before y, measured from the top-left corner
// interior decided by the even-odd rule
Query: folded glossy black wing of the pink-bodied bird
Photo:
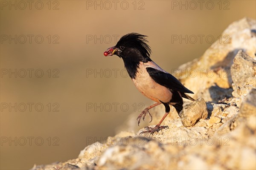
[[[148,74],[155,82],[166,88],[172,89],[174,91],[180,91],[181,93],[191,93],[194,94],[189,89],[185,88],[179,80],[177,80],[172,74],[164,73],[163,71],[157,70],[155,68],[147,67]]]

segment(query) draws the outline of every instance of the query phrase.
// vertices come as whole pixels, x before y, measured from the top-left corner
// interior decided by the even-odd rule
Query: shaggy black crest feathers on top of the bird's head
[[[146,35],[138,34],[138,33],[129,33],[120,38],[117,42],[116,47],[124,46],[128,48],[135,48],[140,51],[143,57],[150,57],[151,48],[147,44],[148,40],[146,39]]]

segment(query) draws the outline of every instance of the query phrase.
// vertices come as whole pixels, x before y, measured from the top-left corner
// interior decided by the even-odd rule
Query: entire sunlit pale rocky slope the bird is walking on
[[[172,109],[163,122],[169,128],[139,135],[144,129],[137,130],[131,115],[123,131],[85,147],[77,159],[32,169],[256,169],[255,30],[255,20],[236,21],[222,34],[229,43],[218,40],[180,66],[183,73],[196,71],[178,78],[198,100],[186,102],[180,116]],[[163,111],[151,110],[151,124]]]

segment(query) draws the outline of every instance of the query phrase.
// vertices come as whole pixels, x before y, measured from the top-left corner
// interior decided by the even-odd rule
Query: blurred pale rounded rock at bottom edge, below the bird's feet
[[[123,169],[166,169],[169,167],[169,161],[173,156],[166,153],[160,142],[142,137],[137,138],[141,138],[143,144],[134,144],[128,140],[129,142],[125,145],[117,144],[109,147],[99,159],[98,169],[120,169],[120,167]]]

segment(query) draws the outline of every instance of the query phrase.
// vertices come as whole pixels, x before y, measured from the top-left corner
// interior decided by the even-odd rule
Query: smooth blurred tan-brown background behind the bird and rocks
[[[151,58],[171,73],[200,57],[230,23],[256,17],[254,0],[0,3],[5,170],[74,159],[152,103],[122,59],[103,56],[122,35],[148,35]]]

